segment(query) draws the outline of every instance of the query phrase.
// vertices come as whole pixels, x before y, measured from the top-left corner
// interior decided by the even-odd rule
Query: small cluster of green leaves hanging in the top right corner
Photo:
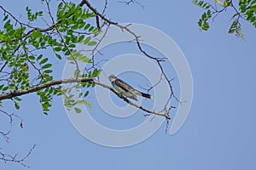
[[[240,0],[237,4],[232,0],[226,0],[222,3],[219,0],[215,1],[215,5],[207,3],[203,0],[193,0],[193,3],[198,7],[203,8],[206,12],[201,15],[201,19],[198,21],[198,26],[201,30],[207,31],[210,28],[209,19],[212,20],[220,13],[225,12],[228,9],[233,11],[231,16],[232,24],[229,28],[229,33],[236,33],[236,37],[244,39],[244,35],[241,31],[241,20],[247,20],[256,28],[256,0]]]

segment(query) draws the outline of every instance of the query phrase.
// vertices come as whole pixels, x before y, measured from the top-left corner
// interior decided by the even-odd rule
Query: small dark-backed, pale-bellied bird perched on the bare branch
[[[108,79],[112,83],[113,88],[115,88],[119,93],[123,94],[127,98],[137,100],[136,95],[143,96],[144,98],[148,99],[153,98],[153,96],[150,94],[143,94],[142,92],[139,92],[134,88],[131,88],[129,84],[113,75],[110,75]]]

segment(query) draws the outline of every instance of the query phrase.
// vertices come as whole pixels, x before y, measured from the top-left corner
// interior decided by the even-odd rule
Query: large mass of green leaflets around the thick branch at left
[[[49,2],[42,1],[49,9]],[[69,59],[73,64],[77,61],[91,63],[91,59],[75,51],[79,43],[87,46],[95,46],[97,42],[91,40],[90,35],[99,33],[95,26],[90,24],[90,18],[96,14],[88,8],[82,8],[75,3],[59,3],[56,7],[56,15],[51,11],[32,12],[26,7],[26,21],[20,21],[8,10],[2,8],[3,28],[0,30],[0,94],[10,94],[20,90],[28,90],[32,87],[44,84],[54,79],[53,57],[55,59]],[[48,15],[51,24],[47,28],[33,26],[34,21]],[[67,57],[66,57],[67,56]],[[91,67],[90,70],[80,71],[77,65],[75,77],[97,77],[100,71]],[[92,84],[79,83],[73,88],[92,87]],[[70,89],[69,89],[70,90]],[[68,89],[61,89],[61,85],[51,86],[38,90],[39,102],[44,114],[48,114],[54,96],[65,94],[65,105],[72,109],[74,105],[90,103],[83,99],[75,101]],[[84,98],[88,95],[84,94]],[[12,99],[15,108],[20,109],[21,99]],[[2,104],[2,101],[1,101]],[[78,108],[74,108],[80,112]]]

